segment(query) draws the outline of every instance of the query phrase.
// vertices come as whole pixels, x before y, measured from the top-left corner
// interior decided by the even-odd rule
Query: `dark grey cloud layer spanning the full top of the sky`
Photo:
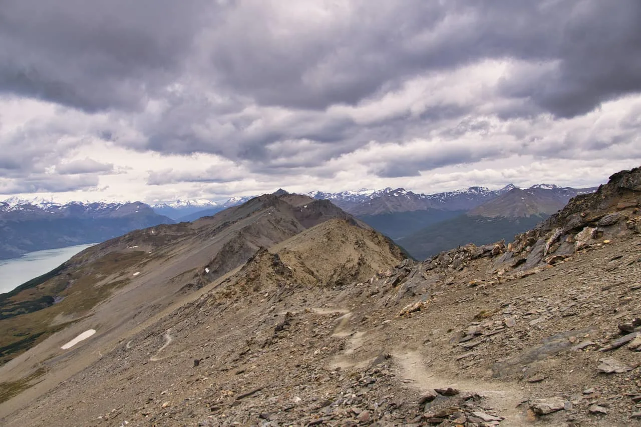
[[[324,6],[314,19],[313,3],[295,15],[251,1],[4,1],[0,88],[87,110],[125,108],[187,72],[263,105],[326,108],[417,73],[519,58],[558,62],[505,88],[557,115],[641,89],[637,0]],[[193,56],[210,68],[185,70]]]

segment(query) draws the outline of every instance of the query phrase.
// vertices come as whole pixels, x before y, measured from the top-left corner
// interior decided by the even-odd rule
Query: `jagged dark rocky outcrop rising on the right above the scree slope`
[[[425,268],[461,270],[482,257],[492,258],[497,268],[517,271],[555,264],[586,247],[641,233],[640,206],[641,167],[617,172],[595,193],[574,197],[560,212],[515,236],[507,246],[505,242],[469,244],[428,258]]]

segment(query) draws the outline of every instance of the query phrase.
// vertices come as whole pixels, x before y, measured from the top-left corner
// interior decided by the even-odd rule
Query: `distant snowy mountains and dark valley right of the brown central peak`
[[[450,247],[487,244],[533,228],[578,194],[596,188],[533,185],[499,190],[470,187],[437,194],[417,194],[403,188],[372,192],[311,192],[367,222],[401,245],[416,259]]]

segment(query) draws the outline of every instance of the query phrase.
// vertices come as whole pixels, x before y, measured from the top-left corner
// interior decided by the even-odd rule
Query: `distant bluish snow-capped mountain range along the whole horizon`
[[[331,201],[403,245],[412,256],[424,258],[467,242],[510,240],[515,233],[556,212],[576,194],[594,190],[546,184],[522,190],[510,184],[499,190],[470,187],[437,194],[417,194],[388,187],[336,193],[313,191],[306,196]],[[221,202],[180,199],[146,205],[140,202],[60,204],[51,199],[12,197],[0,202],[0,221],[4,221],[0,231],[0,259],[28,251],[100,242],[155,224],[196,221],[251,198],[230,197]],[[479,221],[485,224],[483,231],[478,227]]]

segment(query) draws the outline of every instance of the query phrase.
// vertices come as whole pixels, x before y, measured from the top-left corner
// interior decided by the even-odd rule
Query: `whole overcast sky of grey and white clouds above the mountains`
[[[0,199],[221,199],[641,165],[638,0],[3,0]]]

